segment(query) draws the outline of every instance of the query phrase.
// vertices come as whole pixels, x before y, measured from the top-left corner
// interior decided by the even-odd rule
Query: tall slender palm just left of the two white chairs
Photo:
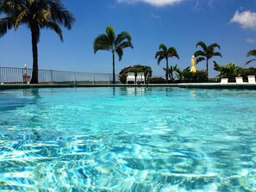
[[[122,49],[127,47],[134,48],[131,35],[123,31],[116,36],[115,30],[111,26],[107,26],[106,34],[99,34],[93,42],[94,53],[97,53],[98,50],[110,51],[112,53],[113,84],[116,84],[115,53],[117,53],[119,61],[121,61],[123,55]]]

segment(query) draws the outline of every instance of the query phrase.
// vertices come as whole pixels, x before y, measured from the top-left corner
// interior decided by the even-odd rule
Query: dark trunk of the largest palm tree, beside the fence
[[[33,52],[33,71],[30,84],[38,84],[38,53],[37,53],[37,38],[36,34],[32,31],[32,52]]]

